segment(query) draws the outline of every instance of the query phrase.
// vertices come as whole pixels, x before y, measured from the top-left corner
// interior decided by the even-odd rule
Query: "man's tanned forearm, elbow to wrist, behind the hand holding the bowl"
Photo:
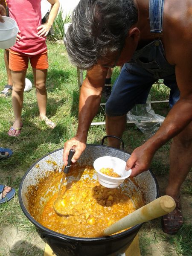
[[[192,101],[180,99],[169,111],[159,130],[145,143],[151,152],[157,151],[167,141],[192,122]]]

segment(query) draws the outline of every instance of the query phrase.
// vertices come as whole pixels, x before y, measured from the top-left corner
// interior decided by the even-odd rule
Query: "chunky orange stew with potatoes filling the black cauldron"
[[[109,225],[143,206],[133,202],[122,186],[108,189],[96,179],[93,166],[72,166],[67,175],[67,189],[62,195],[66,216],[58,215],[53,207],[62,172],[54,171],[31,186],[28,193],[30,214],[44,227],[55,232],[76,237],[98,237]],[[126,179],[124,182],[129,182]],[[134,182],[131,180],[131,182]],[[41,207],[40,207],[41,205]]]

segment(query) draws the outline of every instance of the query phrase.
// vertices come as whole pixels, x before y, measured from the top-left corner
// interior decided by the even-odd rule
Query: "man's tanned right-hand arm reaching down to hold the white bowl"
[[[189,34],[190,35],[190,34]],[[192,35],[191,35],[192,36]],[[177,42],[177,43],[176,43]],[[132,176],[146,171],[154,153],[168,140],[180,133],[192,122],[192,38],[183,36],[172,44],[172,62],[175,63],[180,99],[169,111],[160,129],[145,144],[136,148],[127,161],[126,169],[132,169]]]

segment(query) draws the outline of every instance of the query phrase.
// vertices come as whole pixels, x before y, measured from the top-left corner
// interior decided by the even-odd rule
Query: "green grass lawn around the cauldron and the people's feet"
[[[0,98],[0,105],[2,111],[0,112],[0,146],[11,148],[14,151],[9,160],[0,161],[0,183],[13,186],[18,192],[18,187],[21,178],[38,158],[43,157],[45,154],[61,148],[64,142],[76,134],[78,123],[78,102],[79,102],[79,89],[76,75],[76,68],[73,67],[67,58],[66,50],[63,43],[53,44],[48,42],[48,56],[49,56],[49,70],[47,76],[47,116],[57,126],[54,130],[45,125],[39,119],[37,100],[35,96],[35,88],[24,93],[24,104],[22,111],[23,128],[19,137],[9,137],[7,132],[14,120],[11,98]],[[84,72],[85,76],[86,72]],[[112,76],[112,83],[119,74],[119,68],[115,68]],[[27,71],[27,78],[33,82],[32,70],[29,67]],[[3,61],[3,50],[0,49],[0,90],[6,84],[6,70]],[[165,100],[169,98],[169,90],[165,86],[155,85],[151,90],[152,100]],[[157,104],[152,106],[156,113],[166,116],[169,111],[167,103]],[[93,122],[104,122],[105,111],[100,108],[97,116]],[[87,143],[100,144],[102,137],[105,136],[105,125],[91,126]],[[134,148],[141,145],[146,139],[145,135],[138,130],[134,125],[127,125],[123,134],[125,142],[125,150],[132,152]],[[154,156],[151,163],[151,169],[157,177],[167,177],[169,172],[169,143],[166,143],[160,148]],[[183,190],[188,195],[192,194],[190,181],[186,182]],[[142,255],[150,253],[148,245],[157,243],[161,234],[159,221],[152,221],[153,227],[145,226],[145,234],[140,233],[140,248]],[[24,216],[20,209],[18,202],[18,193],[15,198],[0,205],[0,234],[3,233],[4,228],[17,228],[19,232],[23,233],[24,240],[20,244],[10,247],[7,251],[7,244],[0,243],[0,255],[5,256],[7,253],[14,256],[43,256],[43,250],[39,249],[32,243],[30,239],[35,237],[35,226],[31,224]],[[154,232],[155,239],[154,239]],[[188,256],[189,239],[186,241],[189,233],[189,227],[183,228],[178,236],[172,236],[172,239],[177,241],[180,246],[175,247],[175,255]],[[164,235],[159,241],[166,241],[172,250],[173,240],[169,236]],[[181,244],[182,241],[182,244]],[[184,244],[187,243],[185,249]],[[186,254],[184,254],[186,253]]]

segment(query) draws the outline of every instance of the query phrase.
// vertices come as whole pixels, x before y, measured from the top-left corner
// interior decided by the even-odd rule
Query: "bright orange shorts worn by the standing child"
[[[35,69],[45,70],[49,67],[47,51],[29,55],[22,52],[15,52],[12,49],[9,51],[9,68],[13,71],[23,71],[28,69],[29,61]]]

